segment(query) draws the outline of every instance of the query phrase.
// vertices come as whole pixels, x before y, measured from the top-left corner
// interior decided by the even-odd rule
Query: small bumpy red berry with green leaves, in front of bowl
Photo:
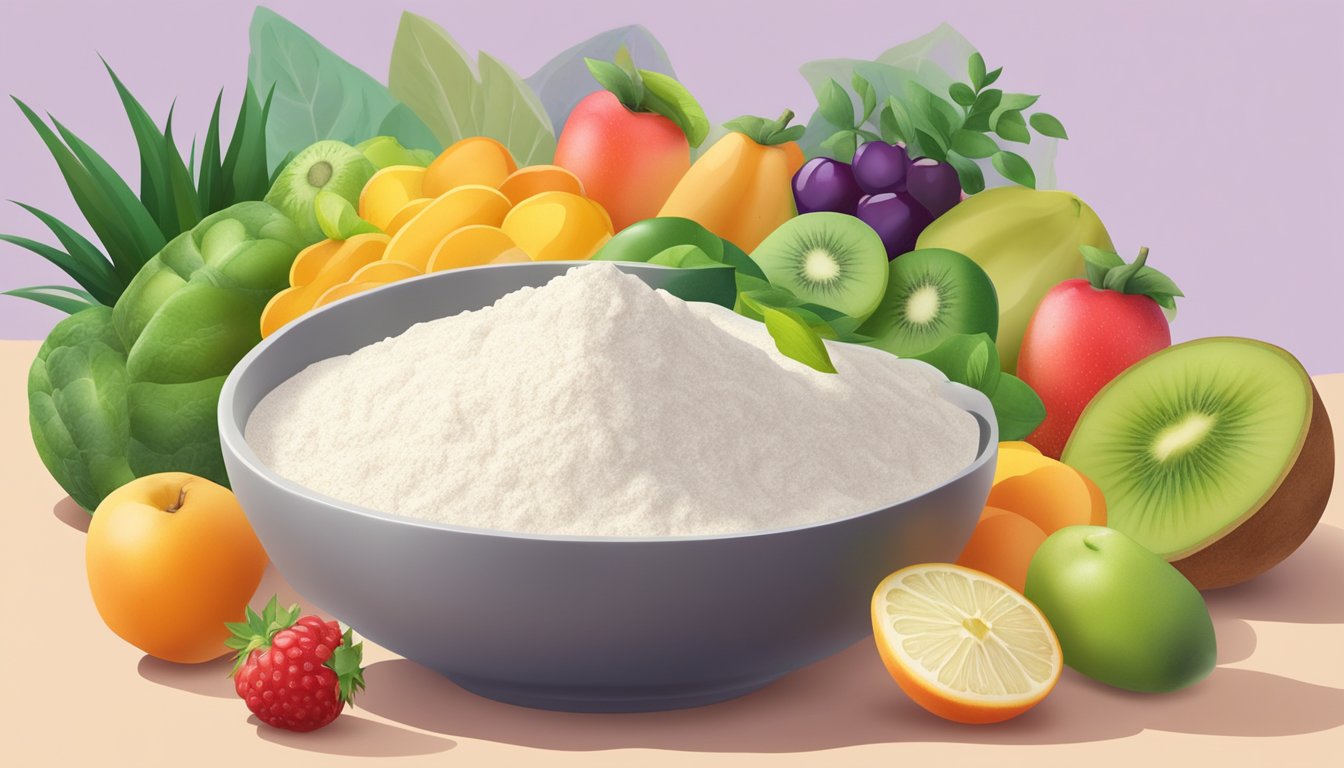
[[[336,621],[300,619],[298,605],[281,608],[271,597],[261,616],[247,608],[247,620],[228,629],[234,636],[224,644],[238,648],[234,689],[266,725],[314,730],[364,689],[364,644]]]

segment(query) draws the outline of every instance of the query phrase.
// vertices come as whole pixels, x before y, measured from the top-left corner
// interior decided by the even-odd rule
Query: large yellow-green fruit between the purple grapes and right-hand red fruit
[[[1095,211],[1077,195],[1009,186],[957,203],[925,227],[915,247],[956,250],[984,268],[999,292],[999,360],[1012,373],[1046,292],[1082,277],[1081,245],[1116,250]]]

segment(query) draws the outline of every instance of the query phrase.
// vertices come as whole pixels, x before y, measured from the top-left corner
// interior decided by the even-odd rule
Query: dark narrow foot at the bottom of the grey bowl
[[[484,681],[458,674],[445,677],[462,689],[489,699],[531,709],[582,713],[636,713],[688,709],[728,701],[757,691],[784,675],[723,686],[667,687],[583,687],[527,686],[513,682]]]

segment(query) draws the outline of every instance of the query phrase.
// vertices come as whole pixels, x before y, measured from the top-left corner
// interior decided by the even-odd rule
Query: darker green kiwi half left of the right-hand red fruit
[[[887,292],[859,328],[872,346],[918,355],[957,334],[999,334],[999,295],[978,264],[945,247],[891,260]]]

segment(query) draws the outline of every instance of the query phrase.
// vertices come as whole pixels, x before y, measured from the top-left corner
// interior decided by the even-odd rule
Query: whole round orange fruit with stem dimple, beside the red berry
[[[185,472],[137,477],[98,504],[85,541],[93,604],[151,656],[199,663],[228,651],[266,550],[234,494]]]

